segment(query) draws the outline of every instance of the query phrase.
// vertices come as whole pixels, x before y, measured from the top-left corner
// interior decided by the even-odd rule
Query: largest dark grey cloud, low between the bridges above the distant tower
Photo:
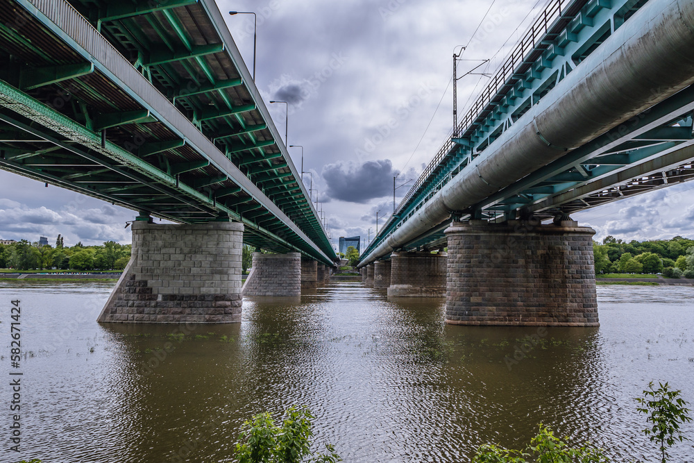
[[[393,194],[393,171],[389,159],[354,162],[336,162],[323,167],[323,179],[328,196],[350,203],[366,203],[371,199]]]

